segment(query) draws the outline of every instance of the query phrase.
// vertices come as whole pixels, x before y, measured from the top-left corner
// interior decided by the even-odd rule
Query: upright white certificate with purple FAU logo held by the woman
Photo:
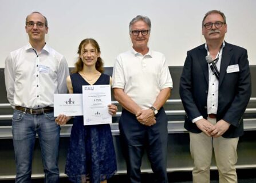
[[[84,125],[111,124],[112,116],[108,113],[111,104],[110,85],[82,86]]]

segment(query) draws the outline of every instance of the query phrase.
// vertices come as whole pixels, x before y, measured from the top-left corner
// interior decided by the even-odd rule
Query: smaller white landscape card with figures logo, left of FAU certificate
[[[54,116],[82,116],[82,94],[54,94]]]

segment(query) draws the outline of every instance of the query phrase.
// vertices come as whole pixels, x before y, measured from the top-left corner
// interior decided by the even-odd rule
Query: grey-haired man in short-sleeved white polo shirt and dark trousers
[[[113,91],[123,106],[119,129],[129,182],[140,182],[140,166],[147,150],[155,182],[167,179],[167,116],[163,105],[170,97],[172,78],[162,53],[149,50],[151,21],[137,15],[129,23],[132,49],[117,56]]]

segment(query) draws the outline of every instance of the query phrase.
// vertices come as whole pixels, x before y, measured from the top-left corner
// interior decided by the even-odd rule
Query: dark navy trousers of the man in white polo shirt
[[[129,182],[139,183],[140,166],[144,150],[157,183],[167,183],[167,116],[161,108],[156,115],[153,126],[141,125],[136,116],[123,109],[119,129],[121,146],[127,163]]]

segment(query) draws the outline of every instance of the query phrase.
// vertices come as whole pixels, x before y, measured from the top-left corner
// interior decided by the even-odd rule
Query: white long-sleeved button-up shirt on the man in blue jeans
[[[53,107],[53,94],[67,92],[68,75],[68,63],[63,55],[47,45],[37,53],[28,44],[6,58],[7,98],[13,108]]]

